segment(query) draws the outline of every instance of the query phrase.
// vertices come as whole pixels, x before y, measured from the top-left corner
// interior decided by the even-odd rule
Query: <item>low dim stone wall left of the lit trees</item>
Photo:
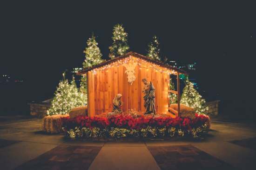
[[[47,110],[50,108],[50,103],[28,103],[30,105],[30,114],[38,118],[44,118],[47,115]]]

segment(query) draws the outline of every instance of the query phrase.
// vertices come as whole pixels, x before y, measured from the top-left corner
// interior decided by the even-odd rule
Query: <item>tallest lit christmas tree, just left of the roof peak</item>
[[[121,24],[114,26],[112,37],[113,44],[109,47],[109,57],[111,59],[117,56],[122,56],[129,50],[127,36],[128,33],[124,31]]]

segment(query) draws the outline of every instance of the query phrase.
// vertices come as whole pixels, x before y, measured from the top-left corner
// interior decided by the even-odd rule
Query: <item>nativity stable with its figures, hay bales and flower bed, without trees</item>
[[[95,139],[197,138],[209,130],[207,115],[180,104],[179,75],[187,74],[181,69],[131,51],[77,74],[86,77],[87,105],[47,116],[44,131]],[[177,77],[177,91],[170,89],[171,75]],[[170,103],[170,94],[176,94],[176,103]]]

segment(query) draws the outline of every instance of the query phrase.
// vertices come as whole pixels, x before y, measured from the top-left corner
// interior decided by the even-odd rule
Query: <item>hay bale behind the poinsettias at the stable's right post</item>
[[[170,108],[178,111],[178,104],[171,104]],[[190,119],[195,119],[195,110],[192,107],[188,107],[186,105],[180,104],[179,116],[182,118],[188,117]]]

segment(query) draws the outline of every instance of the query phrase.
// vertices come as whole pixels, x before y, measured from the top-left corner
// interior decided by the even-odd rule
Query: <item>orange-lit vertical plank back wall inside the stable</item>
[[[140,60],[138,61],[141,62]],[[151,63],[146,63],[151,64]],[[143,64],[145,66],[145,63]],[[153,68],[135,68],[136,79],[128,83],[126,68],[122,65],[97,71],[88,71],[89,115],[112,112],[113,99],[116,94],[122,94],[123,111],[134,109],[145,111],[142,89],[142,78],[147,78],[155,86],[155,107],[157,113],[168,112],[169,74]]]

